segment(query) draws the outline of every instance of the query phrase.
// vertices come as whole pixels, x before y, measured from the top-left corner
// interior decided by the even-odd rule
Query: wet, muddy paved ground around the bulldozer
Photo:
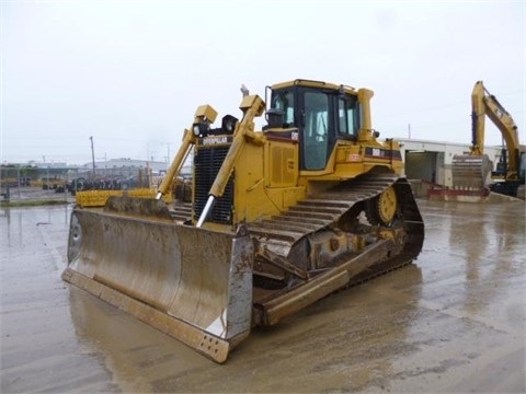
[[[414,265],[254,332],[224,366],[61,281],[71,207],[2,209],[0,391],[524,393],[524,202],[419,205]]]

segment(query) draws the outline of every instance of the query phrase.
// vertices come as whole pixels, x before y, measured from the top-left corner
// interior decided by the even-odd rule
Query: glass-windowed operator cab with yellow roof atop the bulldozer
[[[264,130],[297,137],[300,169],[320,171],[325,169],[336,140],[357,140],[359,113],[358,96],[352,88],[296,80],[271,88]]]

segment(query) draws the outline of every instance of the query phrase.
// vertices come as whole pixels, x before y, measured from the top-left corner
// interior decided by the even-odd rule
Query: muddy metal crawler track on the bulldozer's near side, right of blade
[[[273,253],[286,258],[293,246],[317,231],[345,225],[358,219],[367,200],[393,186],[400,206],[399,220],[405,233],[401,253],[387,260],[373,265],[352,278],[346,287],[356,285],[397,269],[411,263],[419,255],[424,240],[424,223],[414,199],[411,186],[405,178],[391,173],[373,173],[342,183],[336,187],[299,201],[284,213],[249,225],[252,237],[264,244]],[[281,291],[283,293],[284,291]],[[254,294],[258,289],[254,288]],[[254,303],[275,297],[264,293],[254,297]]]

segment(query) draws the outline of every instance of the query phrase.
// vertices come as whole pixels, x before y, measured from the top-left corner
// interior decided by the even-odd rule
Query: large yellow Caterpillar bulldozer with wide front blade
[[[62,278],[225,362],[254,327],[410,264],[424,223],[371,96],[294,80],[217,127],[199,106],[156,198],[73,209]],[[192,201],[167,204],[191,152]]]

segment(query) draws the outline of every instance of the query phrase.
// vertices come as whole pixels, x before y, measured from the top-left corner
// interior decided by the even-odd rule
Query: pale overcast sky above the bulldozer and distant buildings
[[[165,161],[198,105],[297,78],[375,91],[380,138],[461,143],[482,80],[526,141],[524,0],[1,0],[1,163],[91,162],[91,136],[98,161]]]

